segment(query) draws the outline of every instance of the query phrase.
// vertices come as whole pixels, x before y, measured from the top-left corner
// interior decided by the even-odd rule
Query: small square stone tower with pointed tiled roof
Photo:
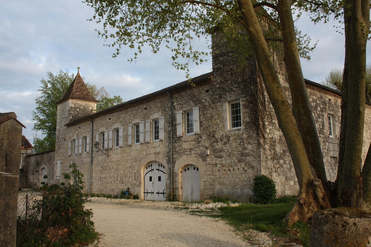
[[[80,76],[80,67],[63,98],[57,102],[56,152],[66,143],[66,123],[96,112],[98,101],[93,98]],[[63,149],[63,148],[62,148]],[[58,156],[58,155],[56,155]]]

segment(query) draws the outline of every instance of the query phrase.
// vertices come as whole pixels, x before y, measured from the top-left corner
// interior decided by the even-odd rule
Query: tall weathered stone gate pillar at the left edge
[[[0,121],[0,246],[16,246],[22,125]]]

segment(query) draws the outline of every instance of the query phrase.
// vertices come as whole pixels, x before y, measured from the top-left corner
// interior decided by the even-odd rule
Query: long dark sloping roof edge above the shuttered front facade
[[[159,95],[162,95],[162,94],[165,94],[165,93],[168,93],[168,92],[172,92],[172,91],[177,90],[177,89],[181,89],[181,88],[190,86],[191,83],[195,83],[197,85],[197,83],[201,83],[201,82],[207,81],[210,78],[210,76],[212,76],[212,75],[213,75],[213,72],[209,72],[209,73],[206,73],[206,74],[197,76],[195,78],[192,78],[191,82],[189,80],[185,80],[185,81],[180,82],[180,83],[177,83],[177,84],[175,84],[173,86],[170,86],[170,87],[167,87],[167,88],[158,90],[156,92],[149,93],[147,95],[141,96],[139,98],[135,98],[135,99],[132,99],[130,101],[126,101],[124,103],[121,103],[121,104],[112,106],[112,107],[110,107],[108,109],[105,109],[105,110],[103,110],[101,112],[97,112],[97,113],[92,114],[92,115],[82,116],[80,118],[72,119],[71,122],[66,123],[66,126],[74,125],[75,123],[88,120],[89,118],[96,118],[96,117],[98,117],[100,115],[104,115],[104,114],[110,113],[110,112],[115,111],[116,109],[119,109],[119,108],[124,108],[125,106],[131,105],[131,104],[136,103],[138,101],[142,101],[144,99],[148,99],[148,98],[151,98],[151,97],[159,96]]]

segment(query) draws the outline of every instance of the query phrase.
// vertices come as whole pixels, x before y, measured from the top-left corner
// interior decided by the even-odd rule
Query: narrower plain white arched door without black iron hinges
[[[200,200],[200,171],[196,165],[185,165],[182,169],[182,201]]]

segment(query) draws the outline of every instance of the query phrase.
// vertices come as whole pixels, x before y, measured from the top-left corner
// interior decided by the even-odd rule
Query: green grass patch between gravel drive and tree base
[[[239,231],[247,229],[268,231],[277,237],[297,238],[304,246],[308,246],[309,226],[298,222],[293,227],[288,228],[283,221],[292,205],[292,201],[276,204],[246,203],[239,207],[222,207],[219,209],[219,215],[210,215],[210,217],[226,220]]]

